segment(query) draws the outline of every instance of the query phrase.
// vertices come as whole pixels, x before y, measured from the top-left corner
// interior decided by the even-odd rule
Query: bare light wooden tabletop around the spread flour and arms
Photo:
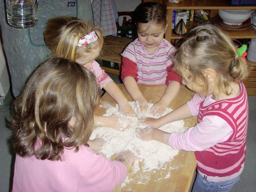
[[[119,88],[122,90],[128,101],[133,101],[129,94],[126,92],[123,84],[118,84]],[[160,97],[164,94],[166,89],[166,85],[160,86],[147,86],[139,84],[139,89],[144,95],[144,97],[148,100],[148,102],[156,102],[160,99]],[[186,89],[185,87],[181,87],[178,96],[174,99],[174,101],[170,104],[172,109],[178,108],[186,101],[190,100],[194,92]],[[100,104],[108,103],[112,106],[116,106],[116,102],[105,93],[98,106],[96,107],[95,114],[103,115],[106,114],[106,108],[101,108]],[[186,127],[191,127],[196,124],[196,117],[188,118],[184,120]],[[166,171],[170,172],[170,177],[158,180],[158,175],[160,175],[163,170],[159,170],[156,172],[136,172],[132,173],[131,168],[128,167],[128,177],[130,178],[129,184],[124,187],[121,185],[117,186],[114,189],[114,192],[188,192],[190,190],[190,185],[193,182],[193,175],[196,170],[196,159],[194,156],[194,152],[186,152],[180,150],[178,155],[174,157],[174,159],[170,162],[166,163],[167,169]],[[174,168],[174,169],[172,169]],[[150,181],[148,184],[141,184],[141,178],[143,175],[147,175]]]

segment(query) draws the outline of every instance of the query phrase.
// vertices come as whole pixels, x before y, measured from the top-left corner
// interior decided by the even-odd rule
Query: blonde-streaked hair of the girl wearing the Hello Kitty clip
[[[78,47],[79,39],[92,31],[96,33],[98,40]],[[46,23],[44,41],[54,56],[76,60],[89,56],[95,50],[100,54],[104,39],[102,29],[94,27],[92,22],[72,16],[60,16],[51,18]]]

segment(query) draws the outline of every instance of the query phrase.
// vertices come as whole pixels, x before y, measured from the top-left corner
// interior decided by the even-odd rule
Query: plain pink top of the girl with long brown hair
[[[63,161],[38,160],[16,155],[13,192],[111,192],[127,174],[118,161],[80,146],[64,151]]]

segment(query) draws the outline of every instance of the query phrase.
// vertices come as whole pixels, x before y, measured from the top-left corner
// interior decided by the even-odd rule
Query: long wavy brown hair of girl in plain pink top
[[[86,145],[99,99],[95,75],[74,61],[40,64],[15,100],[13,146],[22,157],[61,160],[64,148]],[[71,119],[74,126],[70,126]]]

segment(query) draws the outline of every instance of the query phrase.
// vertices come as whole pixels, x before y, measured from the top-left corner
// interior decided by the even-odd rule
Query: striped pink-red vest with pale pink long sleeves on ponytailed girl
[[[231,180],[243,170],[248,127],[246,88],[232,99],[214,101],[211,96],[198,94],[188,102],[198,123],[184,133],[173,132],[169,145],[176,149],[194,151],[198,172],[212,182]]]

